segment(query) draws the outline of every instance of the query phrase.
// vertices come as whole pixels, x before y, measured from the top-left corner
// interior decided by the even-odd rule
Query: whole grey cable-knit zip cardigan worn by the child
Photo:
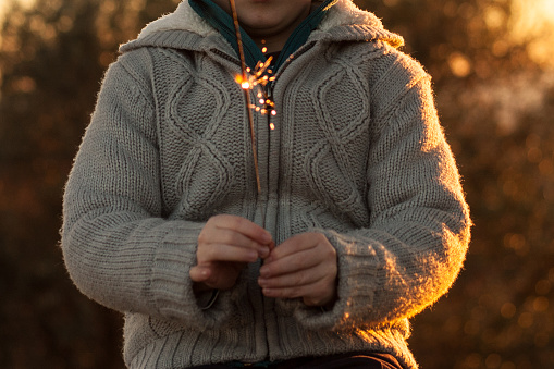
[[[224,38],[183,1],[121,48],[66,184],[61,246],[76,286],[124,313],[128,368],[354,350],[417,368],[408,318],[455,281],[470,219],[430,77],[399,45],[349,0],[329,11],[275,71],[276,115],[254,112],[259,196]],[[278,245],[320,232],[335,247],[332,308],[264,297],[260,262],[201,308],[200,230],[260,211]]]

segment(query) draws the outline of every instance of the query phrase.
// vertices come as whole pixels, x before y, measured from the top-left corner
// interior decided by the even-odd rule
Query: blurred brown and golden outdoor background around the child
[[[62,188],[118,46],[177,2],[0,2],[0,368],[123,368],[121,316],[65,272]],[[554,0],[356,2],[433,76],[476,223],[414,320],[421,368],[554,368]]]

